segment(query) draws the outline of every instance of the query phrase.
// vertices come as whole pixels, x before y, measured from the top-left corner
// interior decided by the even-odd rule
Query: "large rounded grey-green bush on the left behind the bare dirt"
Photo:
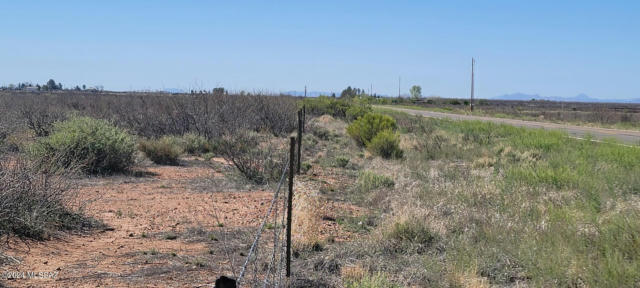
[[[60,168],[81,165],[86,173],[104,174],[134,163],[135,141],[105,120],[75,117],[54,124],[52,134],[39,139],[30,152]]]

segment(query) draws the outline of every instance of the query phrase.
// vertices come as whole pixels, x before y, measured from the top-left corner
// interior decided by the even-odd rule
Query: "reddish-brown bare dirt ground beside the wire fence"
[[[221,159],[214,161],[227,165]],[[231,275],[229,259],[233,258],[236,268],[244,260],[243,253],[273,191],[221,187],[217,184],[221,182],[216,182],[225,177],[221,171],[193,160],[183,166],[136,169],[140,170],[137,177],[79,181],[78,195],[88,201],[86,214],[108,228],[56,235],[49,241],[9,243],[5,253],[21,263],[3,270],[55,272],[55,279],[10,279],[0,286],[199,287],[213,283],[220,275]],[[296,189],[313,193],[313,189],[299,187],[309,185],[297,182]],[[351,209],[343,206],[322,202],[314,215],[305,217],[322,222],[316,225],[319,231],[315,233],[334,234],[345,241],[348,233],[336,223],[322,220]],[[223,239],[227,237],[222,234],[225,229],[242,232],[225,232],[235,239]],[[229,250],[231,257],[225,254]]]

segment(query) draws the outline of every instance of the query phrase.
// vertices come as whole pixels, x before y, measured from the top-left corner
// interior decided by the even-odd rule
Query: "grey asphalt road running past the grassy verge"
[[[397,111],[406,112],[413,115],[422,115],[424,117],[447,118],[447,119],[453,119],[453,120],[480,120],[480,121],[488,121],[488,122],[500,123],[500,124],[509,124],[509,125],[519,126],[519,127],[542,128],[547,130],[564,130],[569,134],[569,136],[575,137],[575,138],[585,138],[587,135],[591,135],[593,139],[596,139],[596,140],[614,138],[620,141],[621,143],[625,143],[629,145],[640,144],[640,131],[586,127],[586,126],[557,124],[557,123],[549,123],[549,122],[524,121],[524,120],[517,120],[517,119],[493,118],[493,117],[473,116],[473,115],[449,114],[449,113],[442,113],[442,112],[398,108],[398,107],[392,107],[392,106],[384,106],[384,107],[397,110]]]

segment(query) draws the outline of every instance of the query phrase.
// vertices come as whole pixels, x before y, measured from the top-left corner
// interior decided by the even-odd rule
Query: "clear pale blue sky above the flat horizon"
[[[638,98],[640,1],[0,1],[0,84]]]

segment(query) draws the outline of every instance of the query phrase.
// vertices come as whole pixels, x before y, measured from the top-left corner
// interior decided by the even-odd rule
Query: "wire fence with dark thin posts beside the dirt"
[[[260,226],[255,232],[253,242],[239,269],[235,268],[233,253],[230,253],[226,246],[226,232],[223,231],[224,250],[231,273],[235,279],[222,276],[216,280],[214,287],[266,288],[289,286],[288,283],[291,276],[293,178],[296,172],[295,169],[299,169],[300,166],[300,146],[302,145],[305,112],[304,109],[298,112],[298,135],[297,137],[290,137],[289,156],[284,162],[286,164],[282,169],[280,180],[274,190],[269,208],[261,218]],[[289,180],[288,193],[282,192],[286,178]],[[214,217],[219,219],[217,212],[214,213]],[[219,222],[219,220],[217,221]],[[268,233],[267,230],[271,230],[269,231],[271,233]],[[239,273],[236,274],[236,271],[239,271]]]

